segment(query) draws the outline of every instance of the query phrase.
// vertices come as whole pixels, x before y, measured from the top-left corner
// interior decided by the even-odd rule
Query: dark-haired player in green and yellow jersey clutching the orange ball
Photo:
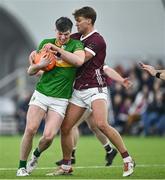
[[[72,26],[72,21],[67,17],[57,19],[56,38],[43,40],[38,48],[40,50],[51,43],[62,48],[63,51],[56,54],[58,56],[56,67],[42,74],[29,102],[17,176],[28,176],[32,172],[37,165],[40,154],[51,145],[63,121],[68,99],[72,94],[76,66],[81,66],[85,58],[83,44],[70,38]],[[35,53],[31,53],[29,56],[29,75],[37,74],[50,63],[49,58],[43,57],[40,63],[34,64]],[[33,137],[44,117],[45,128],[43,135],[27,164],[32,149]],[[31,164],[32,162],[33,164]]]

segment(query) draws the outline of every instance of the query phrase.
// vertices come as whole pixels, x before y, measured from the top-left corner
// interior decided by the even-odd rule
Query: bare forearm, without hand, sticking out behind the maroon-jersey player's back
[[[109,78],[113,79],[114,81],[119,82],[120,84],[123,83],[124,78],[118,72],[116,72],[114,69],[105,65],[103,70]]]

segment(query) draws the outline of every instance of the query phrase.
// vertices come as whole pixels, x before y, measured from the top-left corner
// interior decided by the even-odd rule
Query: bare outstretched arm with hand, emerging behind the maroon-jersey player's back
[[[104,65],[103,70],[109,78],[117,81],[118,83],[123,85],[126,89],[132,87],[133,83],[132,81],[129,80],[129,78],[123,78],[117,71],[110,68],[108,65]]]

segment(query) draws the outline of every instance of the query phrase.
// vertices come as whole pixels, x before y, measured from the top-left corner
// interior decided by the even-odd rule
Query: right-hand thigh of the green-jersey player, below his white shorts
[[[49,110],[45,119],[45,128],[43,134],[53,138],[59,131],[63,121],[63,116],[56,112]]]

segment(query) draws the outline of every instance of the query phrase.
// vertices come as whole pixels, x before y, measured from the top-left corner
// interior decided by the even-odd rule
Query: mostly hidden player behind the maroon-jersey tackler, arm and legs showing
[[[124,88],[129,89],[132,87],[133,83],[129,78],[123,78],[117,71],[109,67],[108,65],[103,66],[104,73],[106,74],[106,80],[107,85],[110,86],[111,80],[116,81],[117,83],[121,84]],[[110,96],[110,94],[109,94]],[[108,100],[111,101],[111,98]],[[109,103],[108,103],[109,104]],[[110,107],[108,106],[108,109]],[[109,139],[96,127],[95,123],[92,121],[91,117],[91,110],[87,109],[85,113],[82,115],[82,117],[79,119],[79,121],[75,124],[75,126],[72,128],[72,137],[73,137],[73,151],[72,151],[72,157],[71,157],[71,164],[76,163],[76,149],[77,149],[77,142],[79,139],[79,125],[82,122],[86,122],[89,129],[95,134],[97,139],[100,141],[100,143],[103,145],[105,151],[106,151],[106,166],[111,166],[114,158],[116,157],[117,150],[112,147],[112,145],[109,142]],[[62,165],[63,161],[57,161],[56,164],[58,166]]]

